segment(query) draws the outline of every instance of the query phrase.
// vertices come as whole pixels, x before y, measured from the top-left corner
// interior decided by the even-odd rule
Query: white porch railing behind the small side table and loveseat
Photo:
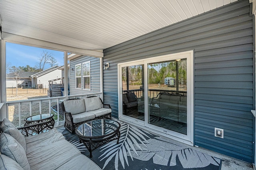
[[[68,99],[86,98],[88,96],[99,96],[102,98],[102,93],[70,95],[68,96]],[[64,100],[66,100],[66,98],[64,96],[60,96],[6,102],[7,117],[16,127],[22,127],[25,123],[24,119],[26,117],[37,114],[52,113],[54,114],[53,118],[55,120],[54,127],[57,127],[64,124],[65,117],[60,108],[60,103]]]

